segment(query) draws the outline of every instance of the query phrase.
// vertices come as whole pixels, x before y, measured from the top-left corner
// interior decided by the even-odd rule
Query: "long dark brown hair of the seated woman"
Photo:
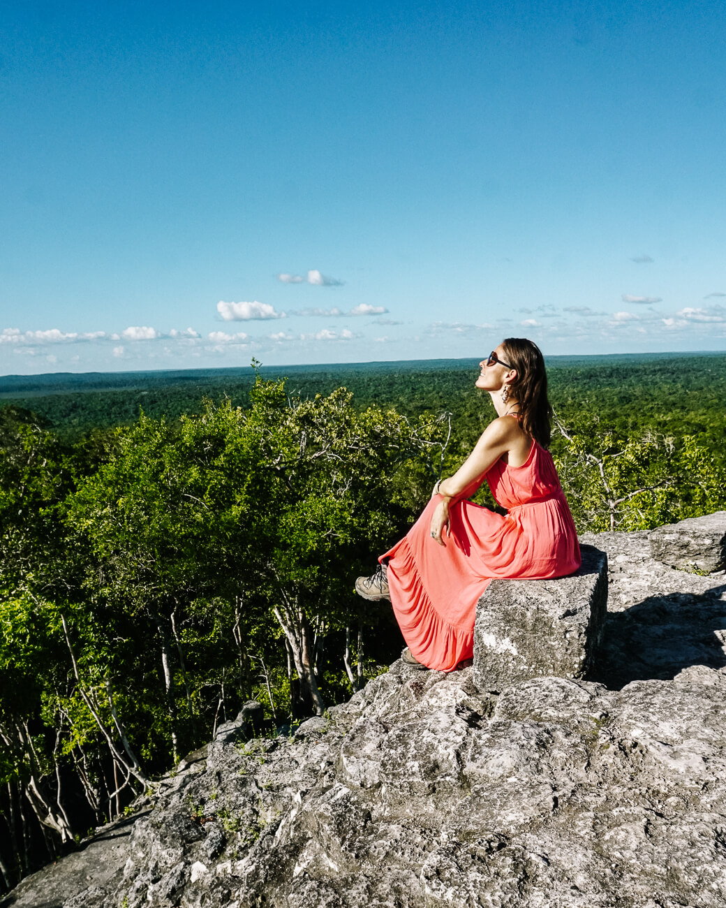
[[[519,404],[520,425],[527,435],[548,448],[552,438],[552,407],[547,400],[547,372],[544,356],[534,341],[506,338],[502,341],[505,360],[516,370],[516,380],[509,386]]]

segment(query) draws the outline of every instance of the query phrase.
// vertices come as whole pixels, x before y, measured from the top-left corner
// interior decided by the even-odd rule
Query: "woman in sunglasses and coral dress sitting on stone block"
[[[552,408],[535,343],[507,338],[479,364],[496,419],[454,476],[434,486],[427,508],[385,555],[358,577],[367,599],[388,598],[407,642],[408,665],[453,671],[474,653],[476,603],[495,577],[565,577],[580,548],[550,442]],[[486,479],[503,517],[466,500]]]

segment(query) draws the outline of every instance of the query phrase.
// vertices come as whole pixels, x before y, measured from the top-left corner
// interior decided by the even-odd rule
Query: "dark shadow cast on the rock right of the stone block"
[[[688,666],[726,666],[726,585],[699,595],[649,596],[605,622],[590,679],[619,690],[631,681],[670,679]]]

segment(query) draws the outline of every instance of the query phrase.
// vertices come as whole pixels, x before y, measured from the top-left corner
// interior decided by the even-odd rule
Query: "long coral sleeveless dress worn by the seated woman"
[[[430,536],[435,496],[379,558],[389,559],[391,605],[411,654],[438,671],[473,656],[476,603],[492,579],[566,577],[580,567],[574,521],[548,450],[534,441],[521,467],[500,458],[485,478],[505,517],[456,501],[444,548]]]

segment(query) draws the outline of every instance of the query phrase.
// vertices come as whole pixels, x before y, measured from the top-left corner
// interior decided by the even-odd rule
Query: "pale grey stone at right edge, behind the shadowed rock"
[[[652,530],[651,555],[671,568],[712,574],[726,568],[726,511]]]

